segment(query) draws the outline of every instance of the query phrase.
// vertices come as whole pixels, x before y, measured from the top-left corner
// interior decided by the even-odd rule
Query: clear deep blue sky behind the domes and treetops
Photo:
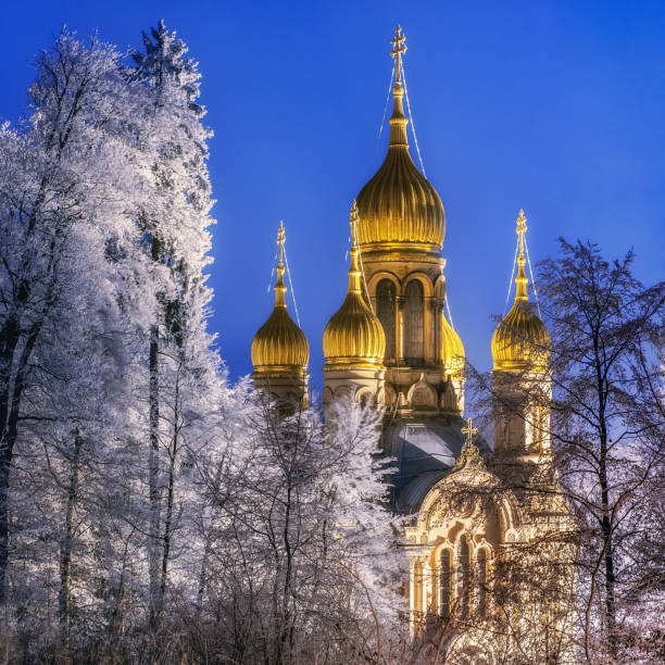
[[[398,22],[472,362],[491,362],[519,208],[532,260],[579,237],[608,258],[633,247],[638,277],[665,277],[665,2],[13,2],[0,21],[0,117],[24,112],[35,54],[63,23],[125,48],[159,18],[200,63],[215,133],[211,327],[231,376],[251,371],[284,219],[321,387],[323,329],[347,288],[348,211],[386,151]]]

